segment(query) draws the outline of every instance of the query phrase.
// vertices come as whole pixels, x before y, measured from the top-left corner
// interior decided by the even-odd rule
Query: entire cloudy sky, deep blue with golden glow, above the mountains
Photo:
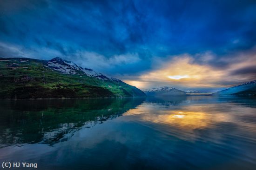
[[[256,1],[0,0],[0,57],[215,92],[256,79]]]

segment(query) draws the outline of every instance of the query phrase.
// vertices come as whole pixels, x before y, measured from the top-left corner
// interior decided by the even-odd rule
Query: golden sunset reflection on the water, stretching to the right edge
[[[166,105],[140,105],[140,107],[127,111],[125,115],[132,115],[136,121],[148,122],[152,128],[161,125],[163,131],[176,131],[181,135],[182,133],[193,134],[195,129],[212,129],[220,123],[235,123],[248,130],[253,130],[256,128],[256,124],[241,120],[241,116],[250,116],[253,110],[254,108],[230,104],[171,107]]]

